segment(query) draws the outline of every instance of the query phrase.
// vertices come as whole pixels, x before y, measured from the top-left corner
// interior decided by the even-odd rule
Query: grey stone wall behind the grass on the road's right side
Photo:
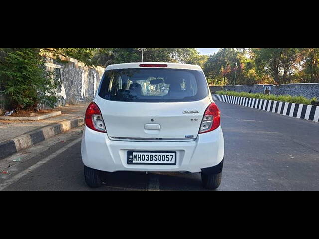
[[[224,86],[224,90],[238,91],[238,92],[251,92],[263,93],[266,89],[270,90],[270,94],[274,95],[291,95],[291,96],[304,96],[306,98],[317,97],[319,99],[319,84],[318,83],[300,83],[300,84],[283,84],[276,85],[236,85]]]

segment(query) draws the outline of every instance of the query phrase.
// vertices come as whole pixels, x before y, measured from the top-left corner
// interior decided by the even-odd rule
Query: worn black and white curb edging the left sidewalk
[[[68,131],[84,124],[84,118],[66,120],[60,123],[37,129],[27,134],[23,134],[11,140],[0,143],[0,159],[17,153],[34,144],[49,139],[57,134]]]

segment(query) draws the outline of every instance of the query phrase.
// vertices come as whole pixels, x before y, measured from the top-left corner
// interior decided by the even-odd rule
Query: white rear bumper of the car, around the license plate
[[[127,151],[176,151],[176,165],[127,164]],[[224,158],[224,137],[221,127],[199,134],[189,142],[131,142],[110,140],[105,133],[85,126],[81,144],[84,165],[101,171],[201,172],[219,165]]]

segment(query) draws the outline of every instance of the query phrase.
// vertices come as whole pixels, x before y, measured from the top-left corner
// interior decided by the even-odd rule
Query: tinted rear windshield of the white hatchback
[[[110,101],[181,102],[208,95],[204,73],[196,70],[108,70],[101,81],[98,94]]]

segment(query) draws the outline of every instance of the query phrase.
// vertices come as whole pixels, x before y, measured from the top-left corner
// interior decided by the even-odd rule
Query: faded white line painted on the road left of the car
[[[28,167],[27,169],[25,169],[24,171],[18,173],[17,175],[13,176],[10,179],[5,180],[2,184],[0,184],[0,191],[2,191],[3,189],[5,189],[7,186],[9,186],[10,184],[18,181],[20,178],[24,177],[25,175],[27,175],[28,173],[30,173],[30,171],[37,169],[38,167],[42,166],[43,164],[47,163],[48,161],[50,161],[51,159],[55,158],[56,156],[58,156],[59,154],[63,153],[64,151],[66,151],[67,149],[69,149],[70,147],[72,147],[73,145],[77,144],[78,142],[80,142],[82,139],[82,137],[74,140],[73,142],[69,143],[68,145],[66,145],[65,147],[59,149],[58,151],[56,151],[55,153],[51,154],[50,156],[42,159],[41,161],[37,162],[36,164],[33,164],[32,166]]]

